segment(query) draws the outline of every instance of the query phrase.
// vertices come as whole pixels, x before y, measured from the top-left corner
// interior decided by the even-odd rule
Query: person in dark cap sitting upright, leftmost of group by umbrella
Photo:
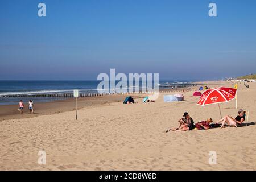
[[[183,115],[184,118],[181,118],[178,122],[180,123],[180,126],[177,127],[176,129],[170,129],[168,131],[188,131],[188,130],[193,130],[195,129],[194,121],[193,119],[189,116],[187,112],[184,113]]]

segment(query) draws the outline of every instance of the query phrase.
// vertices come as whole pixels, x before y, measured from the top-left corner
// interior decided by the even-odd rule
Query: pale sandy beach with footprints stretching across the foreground
[[[238,128],[166,133],[185,111],[195,122],[220,119],[218,106],[196,105],[192,91],[173,103],[163,95],[175,92],[154,103],[142,103],[146,94],[136,95],[136,104],[122,104],[122,95],[86,98],[77,121],[74,100],[36,104],[32,116],[0,106],[0,170],[256,170],[256,83],[249,85],[238,85],[238,109],[249,111],[249,126]],[[222,116],[236,117],[234,100],[220,106]],[[46,165],[38,164],[39,151]],[[217,164],[209,164],[210,151]]]

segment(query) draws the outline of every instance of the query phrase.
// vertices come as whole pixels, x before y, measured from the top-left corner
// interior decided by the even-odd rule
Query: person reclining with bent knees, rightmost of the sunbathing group
[[[237,123],[239,125],[242,124],[242,122],[245,121],[245,114],[242,109],[238,110],[238,116],[234,119],[230,117],[229,115],[226,115],[224,118],[220,119],[216,123],[222,123],[221,129],[224,127],[225,123],[229,125],[230,127],[237,127]]]

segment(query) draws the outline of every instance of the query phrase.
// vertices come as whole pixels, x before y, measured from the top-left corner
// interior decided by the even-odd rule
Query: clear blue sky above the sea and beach
[[[256,1],[1,1],[0,80],[97,80],[110,68],[160,80],[255,73]]]

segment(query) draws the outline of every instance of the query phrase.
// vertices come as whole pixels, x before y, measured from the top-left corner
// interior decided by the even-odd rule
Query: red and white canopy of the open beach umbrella
[[[197,105],[205,106],[209,104],[229,102],[235,98],[236,92],[236,89],[226,87],[209,89],[202,94],[200,100],[197,102]]]

